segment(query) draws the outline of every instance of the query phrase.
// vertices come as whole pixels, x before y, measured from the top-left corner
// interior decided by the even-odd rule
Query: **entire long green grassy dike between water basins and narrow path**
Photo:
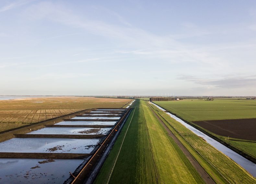
[[[146,102],[136,111],[111,177],[111,183],[204,183],[180,148],[167,135]],[[130,118],[130,117],[129,117]],[[106,183],[129,119],[95,183]]]

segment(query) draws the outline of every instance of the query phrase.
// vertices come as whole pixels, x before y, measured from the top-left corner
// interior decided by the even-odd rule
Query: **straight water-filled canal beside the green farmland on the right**
[[[152,102],[150,102],[152,103]],[[165,109],[163,109],[162,107],[159,107],[157,104],[152,103],[153,105],[155,105],[156,107],[158,107],[160,110],[166,111]],[[226,146],[224,146],[223,144],[221,144],[220,142],[214,140],[213,138],[210,138],[209,136],[207,136],[206,134],[204,134],[203,132],[199,131],[198,129],[192,127],[191,125],[187,124],[185,121],[183,121],[182,119],[176,117],[175,115],[166,112],[171,118],[175,119],[176,121],[180,122],[182,125],[184,125],[186,128],[190,129],[193,133],[195,133],[196,135],[204,138],[206,140],[207,143],[209,143],[210,145],[212,145],[214,148],[218,149],[219,151],[221,151],[222,153],[224,153],[225,155],[227,155],[229,158],[231,158],[232,160],[234,160],[236,163],[238,163],[240,166],[242,166],[245,170],[247,170],[252,176],[256,177],[256,164],[254,164],[253,162],[251,162],[250,160],[244,158],[243,156],[239,155],[238,153],[236,153],[235,151],[233,151],[232,149],[227,148]]]

